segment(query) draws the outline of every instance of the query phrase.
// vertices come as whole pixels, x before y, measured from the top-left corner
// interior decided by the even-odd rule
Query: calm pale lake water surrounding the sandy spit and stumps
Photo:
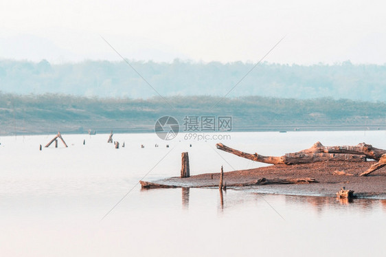
[[[229,135],[223,144],[262,155],[317,141],[386,148],[385,131]],[[171,142],[116,134],[125,142],[120,149],[106,143],[108,135],[63,135],[69,148],[59,142],[40,151],[52,137],[0,137],[1,256],[385,256],[386,200],[141,191],[143,177],[178,176],[183,151],[191,175],[264,164],[220,152],[218,141],[185,141],[181,134]]]

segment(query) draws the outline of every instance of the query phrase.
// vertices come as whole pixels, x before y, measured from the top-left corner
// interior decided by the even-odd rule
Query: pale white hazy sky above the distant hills
[[[386,63],[384,1],[1,1],[0,58]]]

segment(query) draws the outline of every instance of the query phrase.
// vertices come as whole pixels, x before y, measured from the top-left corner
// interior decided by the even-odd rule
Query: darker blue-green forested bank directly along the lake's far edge
[[[385,102],[260,96],[133,100],[0,93],[1,135],[57,131],[87,133],[89,129],[98,133],[111,129],[115,132],[151,132],[163,115],[177,118],[181,126],[185,116],[231,116],[232,131],[386,129]]]

